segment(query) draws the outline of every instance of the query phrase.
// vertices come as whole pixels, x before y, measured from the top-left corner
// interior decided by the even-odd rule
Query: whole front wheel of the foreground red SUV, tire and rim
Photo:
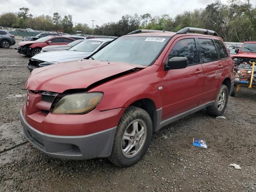
[[[146,153],[152,139],[152,132],[152,120],[145,110],[138,107],[127,108],[118,123],[108,160],[120,167],[136,164]]]

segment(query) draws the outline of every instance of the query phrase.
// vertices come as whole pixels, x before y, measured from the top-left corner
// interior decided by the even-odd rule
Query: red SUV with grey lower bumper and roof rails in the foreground
[[[163,126],[203,108],[222,115],[233,69],[214,31],[136,30],[88,60],[33,70],[20,111],[23,132],[53,157],[132,166]]]

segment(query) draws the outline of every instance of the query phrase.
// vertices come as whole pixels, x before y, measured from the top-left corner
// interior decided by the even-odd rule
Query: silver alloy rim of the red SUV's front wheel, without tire
[[[126,158],[136,156],[143,148],[147,138],[147,126],[143,120],[132,121],[124,131],[121,149]]]

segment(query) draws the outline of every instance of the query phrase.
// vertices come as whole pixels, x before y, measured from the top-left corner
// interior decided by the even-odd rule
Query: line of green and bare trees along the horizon
[[[63,31],[66,33],[92,34],[88,24],[78,23],[74,26],[72,16],[62,18],[55,12],[52,16],[32,16],[28,8],[20,8],[19,12],[0,15],[0,26],[16,28],[32,28],[34,30]],[[107,36],[122,36],[136,29],[153,29],[177,32],[184,27],[206,28],[216,31],[224,41],[244,42],[256,40],[256,8],[248,1],[230,0],[222,3],[220,0],[208,4],[205,8],[185,11],[171,18],[168,14],[152,16],[146,13],[124,15],[117,22],[109,22],[94,26],[93,34]]]

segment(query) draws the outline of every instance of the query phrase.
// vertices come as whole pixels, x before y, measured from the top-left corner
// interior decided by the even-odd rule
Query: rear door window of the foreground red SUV
[[[209,62],[218,59],[217,50],[212,39],[198,39],[201,52],[201,62]]]

